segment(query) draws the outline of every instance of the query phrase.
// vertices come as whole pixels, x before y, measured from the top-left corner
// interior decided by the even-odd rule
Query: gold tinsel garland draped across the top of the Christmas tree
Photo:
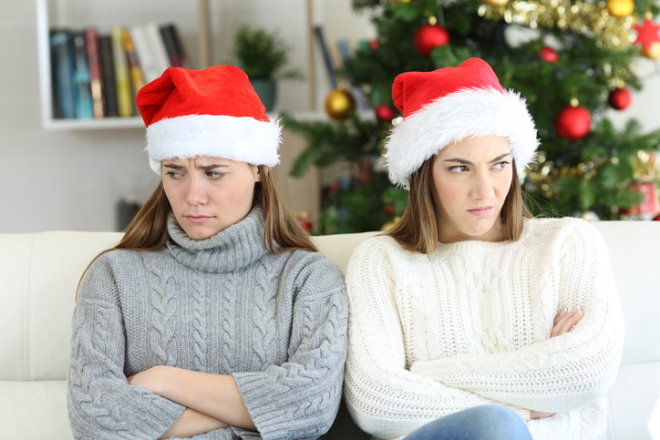
[[[607,11],[604,1],[583,0],[511,0],[504,6],[481,5],[479,15],[508,24],[557,27],[583,36],[593,36],[602,48],[624,48],[633,44],[631,30],[634,15],[616,18]]]

